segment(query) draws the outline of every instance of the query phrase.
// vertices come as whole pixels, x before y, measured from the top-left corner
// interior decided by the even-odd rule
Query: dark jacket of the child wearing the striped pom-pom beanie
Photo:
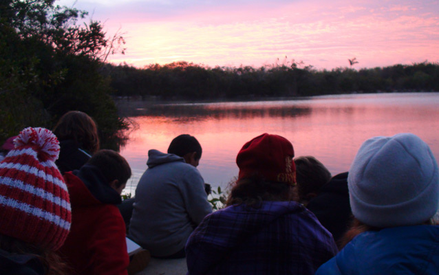
[[[0,250],[1,275],[44,275],[43,263],[36,256]]]

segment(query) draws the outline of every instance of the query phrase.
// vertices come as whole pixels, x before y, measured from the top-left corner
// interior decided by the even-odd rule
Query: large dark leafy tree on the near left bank
[[[51,129],[69,110],[85,111],[105,144],[127,124],[109,96],[103,59],[121,36],[106,39],[103,25],[87,12],[54,0],[0,2],[0,141],[25,126]]]

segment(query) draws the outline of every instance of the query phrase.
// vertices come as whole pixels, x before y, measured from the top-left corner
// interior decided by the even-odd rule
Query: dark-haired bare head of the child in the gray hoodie
[[[192,135],[183,134],[175,137],[169,144],[168,153],[184,157],[184,161],[197,167],[201,159],[200,142]]]

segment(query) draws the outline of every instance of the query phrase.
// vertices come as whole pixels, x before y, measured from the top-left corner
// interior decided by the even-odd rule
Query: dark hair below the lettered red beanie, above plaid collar
[[[253,177],[241,179],[233,184],[226,206],[241,203],[258,206],[262,201],[293,200],[297,200],[297,195],[292,185]]]

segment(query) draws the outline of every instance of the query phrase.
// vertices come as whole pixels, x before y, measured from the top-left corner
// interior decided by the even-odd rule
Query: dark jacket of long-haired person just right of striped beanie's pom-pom
[[[61,173],[79,170],[92,157],[87,151],[79,148],[74,140],[63,140],[59,143],[59,157],[56,166]]]

